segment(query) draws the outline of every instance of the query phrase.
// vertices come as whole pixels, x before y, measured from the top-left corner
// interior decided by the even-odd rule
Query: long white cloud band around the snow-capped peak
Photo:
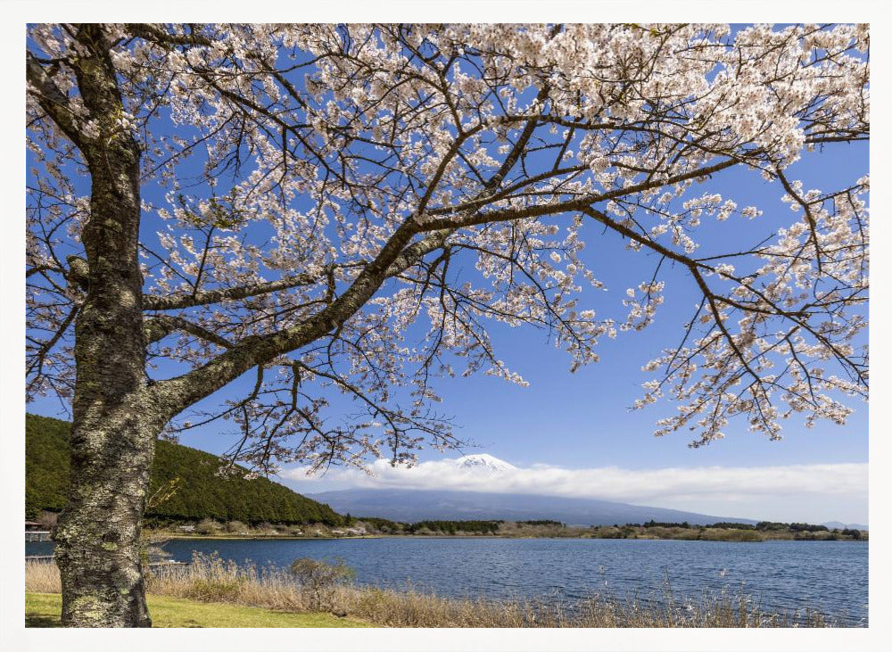
[[[442,459],[411,468],[377,460],[369,471],[338,468],[314,479],[307,477],[306,469],[294,468],[282,475],[292,481],[290,484],[299,484],[299,491],[368,487],[532,493],[723,516],[867,521],[867,464],[656,469],[568,469],[537,464],[493,470]]]

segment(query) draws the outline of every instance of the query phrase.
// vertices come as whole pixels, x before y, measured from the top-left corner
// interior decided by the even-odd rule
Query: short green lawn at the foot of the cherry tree
[[[154,627],[371,627],[331,614],[292,614],[258,607],[147,597]],[[26,627],[61,627],[62,596],[25,593]]]

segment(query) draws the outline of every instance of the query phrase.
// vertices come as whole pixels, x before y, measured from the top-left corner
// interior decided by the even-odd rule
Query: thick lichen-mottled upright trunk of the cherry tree
[[[62,624],[148,627],[139,535],[163,421],[145,392],[140,153],[121,126],[124,105],[102,26],[79,27],[77,39],[78,90],[99,136],[78,143],[92,186],[81,234],[88,271],[75,324],[71,484],[55,534]]]

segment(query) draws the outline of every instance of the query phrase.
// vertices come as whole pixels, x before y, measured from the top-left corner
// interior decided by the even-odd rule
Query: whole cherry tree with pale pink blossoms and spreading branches
[[[657,433],[843,422],[868,387],[869,182],[790,166],[868,139],[868,46],[850,25],[32,26],[27,384],[73,417],[63,623],[151,623],[160,435],[228,422],[260,472],[410,462],[456,443],[435,377],[524,383],[493,323],[576,368],[653,321],[670,268],[699,301],[647,367],[639,405],[678,406]],[[786,224],[709,189],[733,169]],[[707,252],[725,220],[751,242]],[[625,318],[587,304],[591,238],[653,263]],[[361,414],[335,423],[335,393]]]

